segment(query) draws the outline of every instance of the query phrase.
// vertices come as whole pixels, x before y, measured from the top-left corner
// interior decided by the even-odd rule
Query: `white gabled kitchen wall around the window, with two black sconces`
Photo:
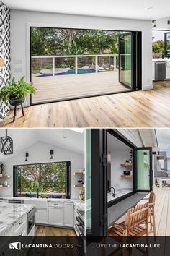
[[[35,145],[32,145],[27,150],[24,150],[23,153],[20,153],[17,156],[14,156],[9,161],[4,161],[5,170],[4,173],[7,173],[13,176],[13,166],[25,163],[49,163],[50,162],[50,149],[54,150],[53,161],[71,161],[71,198],[78,199],[79,188],[73,187],[73,184],[76,184],[76,176],[73,176],[73,173],[79,168],[84,168],[84,155],[79,153],[74,153],[63,148],[57,148],[53,145],[46,144],[44,142],[37,142]],[[25,152],[29,152],[28,161],[25,162]],[[13,179],[7,179],[10,188],[0,189],[0,196],[2,197],[12,197],[13,196]]]

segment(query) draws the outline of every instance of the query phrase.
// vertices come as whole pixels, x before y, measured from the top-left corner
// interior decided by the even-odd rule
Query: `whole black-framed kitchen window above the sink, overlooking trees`
[[[70,198],[70,162],[14,166],[14,197]]]

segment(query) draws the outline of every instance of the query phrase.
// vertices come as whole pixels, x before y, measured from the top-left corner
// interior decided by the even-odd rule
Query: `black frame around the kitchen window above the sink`
[[[71,198],[71,161],[58,161],[47,163],[24,163],[13,166],[13,196],[18,197],[17,168],[18,166],[32,166],[36,164],[66,163],[66,199]]]

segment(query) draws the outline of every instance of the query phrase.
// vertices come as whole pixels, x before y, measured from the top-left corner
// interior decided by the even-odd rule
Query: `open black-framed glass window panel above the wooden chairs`
[[[152,148],[135,148],[136,192],[150,192],[153,184]]]

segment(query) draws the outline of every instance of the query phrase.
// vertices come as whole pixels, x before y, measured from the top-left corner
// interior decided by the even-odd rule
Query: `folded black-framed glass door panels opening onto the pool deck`
[[[141,90],[142,33],[119,35],[119,82],[132,90]]]

